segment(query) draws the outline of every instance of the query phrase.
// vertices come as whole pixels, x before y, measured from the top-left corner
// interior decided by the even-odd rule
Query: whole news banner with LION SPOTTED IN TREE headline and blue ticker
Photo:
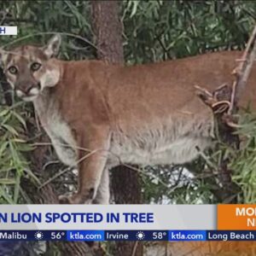
[[[0,241],[256,241],[249,205],[1,207]]]

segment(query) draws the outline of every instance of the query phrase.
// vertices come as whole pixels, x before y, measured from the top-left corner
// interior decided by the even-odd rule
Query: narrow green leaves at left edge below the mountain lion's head
[[[16,204],[20,196],[20,177],[34,177],[26,160],[32,147],[26,143],[26,121],[15,108],[0,107],[0,203]]]

